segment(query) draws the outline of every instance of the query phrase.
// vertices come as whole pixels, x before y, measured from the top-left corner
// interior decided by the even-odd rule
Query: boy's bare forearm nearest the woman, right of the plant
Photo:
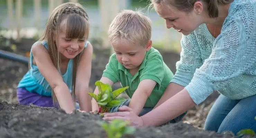
[[[132,95],[129,103],[129,107],[133,109],[136,115],[139,115],[143,109],[147,98],[150,96],[155,86],[156,82],[154,80],[145,79],[140,81],[138,88]]]

